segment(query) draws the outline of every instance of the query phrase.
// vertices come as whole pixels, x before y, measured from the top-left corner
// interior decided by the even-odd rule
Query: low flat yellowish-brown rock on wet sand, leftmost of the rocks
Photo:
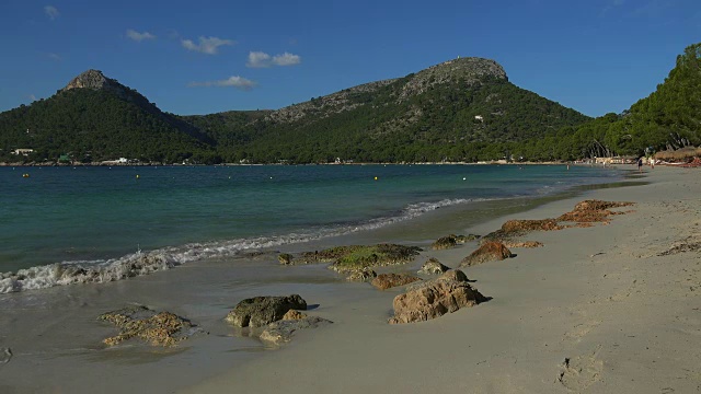
[[[122,329],[116,336],[103,340],[108,346],[134,337],[153,346],[174,346],[202,329],[188,320],[170,312],[157,312],[142,305],[127,306],[97,316]]]

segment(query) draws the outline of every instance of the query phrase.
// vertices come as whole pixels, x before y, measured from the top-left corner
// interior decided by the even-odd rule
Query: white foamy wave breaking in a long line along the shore
[[[0,293],[45,289],[74,283],[103,283],[170,269],[185,263],[207,258],[235,256],[246,251],[303,243],[323,237],[378,229],[416,218],[425,212],[458,204],[485,199],[445,199],[437,202],[412,204],[398,216],[377,218],[360,224],[338,224],[318,231],[289,233],[279,236],[238,239],[220,242],[192,243],[150,252],[137,252],[107,260],[61,262],[0,274]]]

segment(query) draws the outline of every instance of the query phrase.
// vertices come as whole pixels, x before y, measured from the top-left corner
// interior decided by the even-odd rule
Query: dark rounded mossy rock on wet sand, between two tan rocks
[[[278,321],[289,310],[306,310],[307,301],[299,294],[288,297],[254,297],[245,299],[229,312],[226,321],[237,327],[262,327]]]

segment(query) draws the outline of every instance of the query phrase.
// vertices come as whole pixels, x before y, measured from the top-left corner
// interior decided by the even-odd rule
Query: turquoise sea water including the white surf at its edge
[[[146,254],[161,269],[620,177],[564,165],[0,167],[0,292],[118,279]]]

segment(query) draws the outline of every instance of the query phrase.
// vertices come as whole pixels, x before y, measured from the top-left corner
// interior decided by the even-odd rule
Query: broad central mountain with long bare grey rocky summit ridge
[[[493,60],[458,58],[279,111],[184,119],[227,161],[325,163],[474,161],[485,144],[589,118],[508,82]]]

